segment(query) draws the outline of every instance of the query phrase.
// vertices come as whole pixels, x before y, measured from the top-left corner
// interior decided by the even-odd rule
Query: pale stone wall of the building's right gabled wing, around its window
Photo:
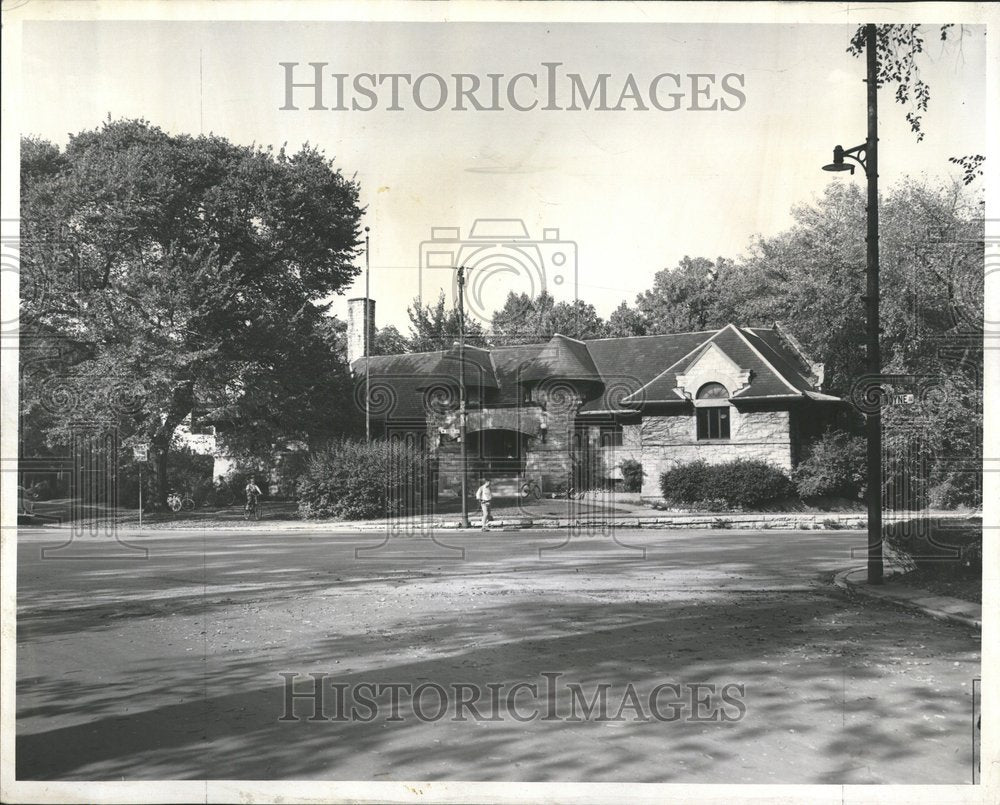
[[[739,411],[730,407],[730,439],[697,439],[694,412],[671,416],[647,416],[642,420],[640,440],[643,497],[661,497],[660,475],[678,464],[702,459],[720,464],[737,458],[758,459],[792,469],[792,435],[788,411]],[[633,437],[634,438],[634,437]]]

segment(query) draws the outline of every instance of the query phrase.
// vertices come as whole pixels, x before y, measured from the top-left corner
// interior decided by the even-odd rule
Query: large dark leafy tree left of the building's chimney
[[[108,121],[22,141],[21,210],[22,416],[50,444],[84,420],[150,442],[162,501],[195,410],[247,448],[329,435],[349,383],[321,300],[357,274],[361,212],[320,151]]]

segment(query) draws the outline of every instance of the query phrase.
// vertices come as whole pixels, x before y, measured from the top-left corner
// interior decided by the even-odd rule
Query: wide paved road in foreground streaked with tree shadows
[[[836,590],[859,532],[51,539],[19,547],[22,779],[971,780],[978,634]],[[356,717],[325,687],[279,720],[282,672]],[[425,688],[365,722],[364,683]]]

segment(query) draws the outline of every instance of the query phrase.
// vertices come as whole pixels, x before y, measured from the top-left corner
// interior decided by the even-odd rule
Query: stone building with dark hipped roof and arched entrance
[[[469,483],[492,478],[500,495],[527,479],[545,492],[620,487],[628,459],[642,465],[644,498],[660,497],[661,473],[696,459],[762,459],[787,471],[842,404],[823,393],[822,365],[777,324],[587,341],[557,334],[467,346],[464,361],[457,346],[368,361],[373,433],[425,447],[438,492],[461,479],[463,364]],[[363,405],[364,358],[352,368]]]

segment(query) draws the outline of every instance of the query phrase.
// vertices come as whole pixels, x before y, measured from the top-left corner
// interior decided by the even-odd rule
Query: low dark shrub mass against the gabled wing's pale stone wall
[[[680,464],[660,476],[660,490],[666,500],[675,503],[721,501],[728,508],[740,509],[787,497],[795,491],[784,472],[753,459]]]

